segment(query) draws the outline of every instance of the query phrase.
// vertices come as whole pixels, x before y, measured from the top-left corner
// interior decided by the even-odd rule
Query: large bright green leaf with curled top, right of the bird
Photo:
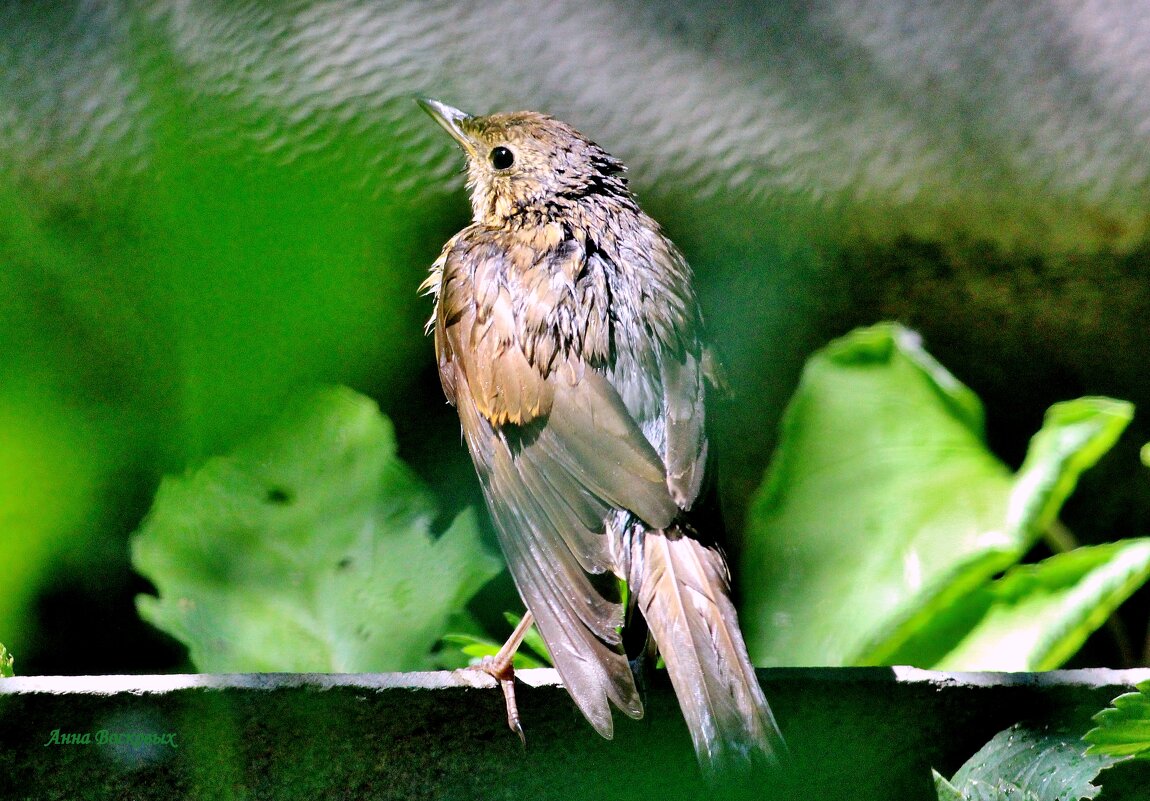
[[[979,400],[881,324],[807,362],[750,510],[741,618],[759,665],[889,663],[1041,536],[1128,403],[1053,407],[1011,476]]]

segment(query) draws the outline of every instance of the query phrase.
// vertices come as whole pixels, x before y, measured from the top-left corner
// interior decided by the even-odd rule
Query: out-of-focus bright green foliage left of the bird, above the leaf
[[[0,631],[30,665],[71,669],[64,632],[37,623],[45,591],[130,600],[126,534],[164,472],[231,448],[310,382],[411,408],[434,364],[415,287],[461,199],[206,145],[227,103],[179,77],[147,72],[145,172],[32,183],[0,169]]]

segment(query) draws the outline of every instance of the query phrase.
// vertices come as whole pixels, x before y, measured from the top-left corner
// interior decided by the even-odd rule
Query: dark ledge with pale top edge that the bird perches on
[[[553,670],[519,676],[526,749],[493,681],[476,673],[0,679],[0,798],[711,798],[664,676],[646,717],[616,715],[610,742]],[[1013,723],[1084,730],[1150,670],[759,677],[793,770],[756,798],[906,801],[933,800],[930,768],[952,772]],[[1107,799],[1150,786],[1144,767],[1111,773]]]

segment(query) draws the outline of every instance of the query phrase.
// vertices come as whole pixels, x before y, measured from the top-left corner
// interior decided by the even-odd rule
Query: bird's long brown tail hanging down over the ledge
[[[643,537],[631,571],[704,772],[721,778],[777,764],[785,745],[746,654],[719,549],[676,524]]]

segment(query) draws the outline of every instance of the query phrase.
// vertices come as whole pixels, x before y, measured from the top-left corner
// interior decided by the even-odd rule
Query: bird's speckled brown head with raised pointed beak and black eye
[[[592,195],[628,197],[622,162],[565,122],[535,111],[473,117],[437,100],[419,103],[467,154],[476,222],[503,225]]]

